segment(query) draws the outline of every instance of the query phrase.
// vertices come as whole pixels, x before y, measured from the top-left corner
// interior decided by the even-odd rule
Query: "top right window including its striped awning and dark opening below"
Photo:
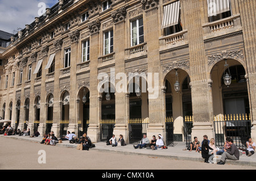
[[[209,22],[232,16],[230,0],[207,0],[207,5]]]

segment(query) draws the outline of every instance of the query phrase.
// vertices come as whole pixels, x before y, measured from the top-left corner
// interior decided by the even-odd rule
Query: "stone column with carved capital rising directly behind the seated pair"
[[[126,32],[126,9],[120,9],[112,12],[114,28],[114,49],[115,49],[115,75],[122,73],[123,77],[115,79],[115,128],[113,134],[117,137],[119,134],[123,135],[126,143],[129,143],[129,97],[126,96],[127,78],[125,75],[125,45],[126,38],[123,36]],[[121,75],[121,74],[120,74]],[[123,82],[118,85],[118,82]],[[122,86],[122,87],[121,87]]]

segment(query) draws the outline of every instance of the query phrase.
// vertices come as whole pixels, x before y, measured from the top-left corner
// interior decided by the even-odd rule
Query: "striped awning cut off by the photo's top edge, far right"
[[[230,11],[230,0],[207,0],[208,17]]]

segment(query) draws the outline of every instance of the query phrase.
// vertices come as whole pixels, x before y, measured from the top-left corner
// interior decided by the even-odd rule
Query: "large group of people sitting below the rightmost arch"
[[[188,150],[196,150],[201,153],[202,158],[204,158],[205,163],[213,163],[213,157],[215,155],[222,155],[218,165],[224,165],[226,159],[239,160],[242,151],[240,151],[235,144],[233,144],[232,138],[227,137],[224,147],[222,149],[216,148],[214,138],[208,140],[208,136],[203,136],[203,141],[200,145],[200,142],[197,140],[197,137],[194,137],[194,141],[188,146]],[[250,156],[254,154],[255,143],[248,138],[246,142],[246,155]]]

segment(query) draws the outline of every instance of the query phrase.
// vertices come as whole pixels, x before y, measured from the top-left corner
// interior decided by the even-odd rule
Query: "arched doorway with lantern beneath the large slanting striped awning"
[[[189,83],[190,77],[183,69],[172,69],[164,78],[167,145],[174,141],[191,141],[186,121],[187,116],[192,116]]]

